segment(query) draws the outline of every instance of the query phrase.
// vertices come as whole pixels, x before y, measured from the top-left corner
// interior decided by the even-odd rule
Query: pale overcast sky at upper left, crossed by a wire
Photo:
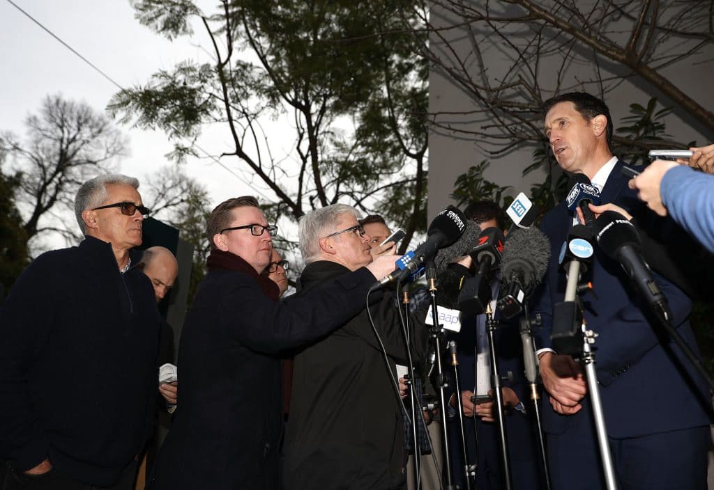
[[[151,73],[171,69],[179,61],[208,61],[201,43],[208,39],[203,33],[193,38],[178,38],[173,43],[152,33],[134,19],[129,0],[13,0],[14,3],[65,43],[94,63],[101,71],[123,87],[144,84]],[[199,2],[210,8],[214,1]],[[47,94],[61,93],[65,98],[84,100],[104,110],[118,91],[116,86],[88,66],[68,48],[34,24],[7,0],[0,0],[0,130],[12,130],[24,135],[23,121],[38,110]],[[119,124],[118,124],[119,125]],[[164,155],[172,145],[163,132],[132,130],[119,125],[129,137],[131,156],[121,160],[121,171],[135,177],[168,165]],[[271,131],[281,131],[271,125]],[[287,132],[290,128],[286,127]],[[200,140],[206,150],[218,153],[227,143],[223,132],[208,133]],[[287,136],[289,140],[292,135]],[[227,145],[226,145],[227,146]],[[236,160],[225,160],[236,173]],[[191,160],[186,172],[201,179],[213,204],[243,194],[263,192],[241,182],[211,160]],[[248,174],[243,173],[246,179]],[[139,189],[141,191],[141,188]]]

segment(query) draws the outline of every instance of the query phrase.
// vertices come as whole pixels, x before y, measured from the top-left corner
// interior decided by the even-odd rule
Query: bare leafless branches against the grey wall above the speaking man
[[[712,63],[713,5],[699,0],[436,0],[428,22],[430,49],[423,55],[474,104],[433,114],[435,128],[480,140],[491,155],[524,142],[542,147],[543,100],[569,90],[606,99],[628,80],[714,131],[708,105],[671,78],[678,67]],[[505,60],[504,68],[494,66],[495,58]],[[615,143],[639,150],[653,145],[623,135]]]

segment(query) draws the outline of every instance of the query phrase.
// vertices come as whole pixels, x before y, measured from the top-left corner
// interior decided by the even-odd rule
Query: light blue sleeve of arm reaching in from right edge
[[[714,253],[714,175],[674,167],[665,173],[660,194],[672,219]]]

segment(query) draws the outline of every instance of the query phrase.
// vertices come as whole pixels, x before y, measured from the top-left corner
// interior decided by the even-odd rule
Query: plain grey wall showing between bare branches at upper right
[[[468,1],[465,2],[469,4]],[[542,2],[545,4],[546,2]],[[471,4],[481,6],[483,2],[471,2]],[[491,1],[492,12],[498,9],[512,9],[511,6],[499,6],[498,1]],[[431,10],[431,23],[438,27],[456,26],[461,23],[461,19],[453,13],[444,11],[443,8],[433,6]],[[628,24],[623,23],[623,36],[628,35],[626,31]],[[473,57],[473,48],[467,27],[445,29],[439,31],[440,35],[446,38],[448,45],[456,53],[456,56],[466,60],[468,70],[472,75],[476,75],[477,63]],[[513,26],[506,31],[510,41],[518,43],[528,36],[528,31],[523,25]],[[524,36],[524,33],[526,36]],[[481,32],[478,34],[479,43],[483,53],[484,65],[488,66],[488,78],[491,83],[496,84],[496,80],[503,78],[506,70],[512,65],[512,61],[506,56],[503,48],[504,41],[496,36],[486,36]],[[456,59],[453,53],[447,49],[447,42],[431,35],[430,48],[433,53],[447,63],[454,63]],[[675,46],[672,47],[676,49]],[[613,63],[595,57],[590,53],[581,53],[584,61],[575,61],[568,58],[563,53],[553,53],[550,56],[543,56],[540,60],[538,70],[538,82],[541,87],[543,100],[554,95],[558,87],[558,80],[555,74],[560,66],[565,66],[563,76],[560,78],[560,92],[570,90],[586,90],[590,93],[598,93],[598,86],[583,83],[583,80],[595,78],[595,75],[602,73],[606,79],[605,87],[612,87],[605,96],[605,102],[610,107],[615,128],[620,125],[623,116],[630,115],[630,103],[640,103],[645,105],[650,97],[658,97],[660,107],[673,106],[672,101],[664,98],[659,90],[636,78],[625,78],[628,70],[616,66]],[[533,60],[528,60],[533,61]],[[524,74],[526,66],[523,63]],[[705,108],[714,108],[714,90],[711,86],[714,83],[714,46],[709,43],[700,53],[663,68],[662,73],[666,75],[675,85],[682,88],[685,93],[697,100]],[[442,123],[448,123],[453,128],[461,130],[479,132],[486,125],[497,122],[488,119],[483,114],[473,112],[471,114],[454,114],[468,111],[483,110],[483,104],[466,93],[453,77],[445,75],[441,69],[432,69],[429,76],[429,111],[431,114],[441,113],[438,118]],[[445,114],[451,113],[451,114]],[[542,121],[538,120],[538,127],[542,127]],[[667,132],[673,140],[688,142],[696,140],[699,145],[714,142],[714,135],[707,134],[698,123],[681,110],[674,110],[673,115],[666,120]],[[443,128],[433,127],[429,135],[429,203],[428,217],[433,217],[440,209],[447,204],[452,204],[449,194],[453,192],[453,184],[459,174],[463,174],[468,167],[475,165],[481,160],[489,158],[491,165],[486,172],[486,178],[502,185],[511,185],[513,189],[509,194],[516,195],[518,192],[526,192],[535,182],[542,182],[543,172],[532,172],[526,177],[522,176],[523,168],[532,162],[531,152],[533,147],[513,147],[509,148],[505,155],[491,157],[489,151],[498,150],[496,145],[489,145],[478,135],[463,135],[450,132]]]

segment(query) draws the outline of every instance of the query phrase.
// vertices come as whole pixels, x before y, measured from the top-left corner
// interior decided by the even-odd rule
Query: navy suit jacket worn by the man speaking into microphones
[[[620,172],[618,161],[601,192],[601,202],[614,203],[637,217],[640,233],[650,239],[666,241],[677,234],[669,218],[649,212],[627,186],[628,178]],[[543,328],[536,339],[538,348],[550,347],[550,327],[554,303],[563,301],[565,274],[558,272],[558,251],[573,223],[573,214],[564,202],[548,212],[542,229],[550,239],[553,254],[543,287],[534,298],[536,312],[543,316]],[[603,399],[605,422],[610,437],[638,437],[670,430],[698,427],[710,423],[711,402],[703,379],[686,360],[680,348],[650,322],[648,304],[630,285],[618,262],[608,259],[595,246],[592,270],[586,278],[595,293],[581,296],[588,328],[595,330],[596,370]],[[665,247],[663,247],[663,250]],[[686,253],[681,251],[680,253]],[[660,258],[666,260],[666,258]],[[687,320],[691,301],[677,286],[657,273],[653,274],[673,312],[678,331],[696,351],[693,332]],[[597,295],[597,296],[595,296]],[[650,317],[651,318],[651,317]],[[589,410],[558,415],[543,397],[545,432],[558,434],[568,429],[572,417],[590,417]],[[587,400],[586,400],[587,401]],[[589,404],[583,404],[587,408]]]

